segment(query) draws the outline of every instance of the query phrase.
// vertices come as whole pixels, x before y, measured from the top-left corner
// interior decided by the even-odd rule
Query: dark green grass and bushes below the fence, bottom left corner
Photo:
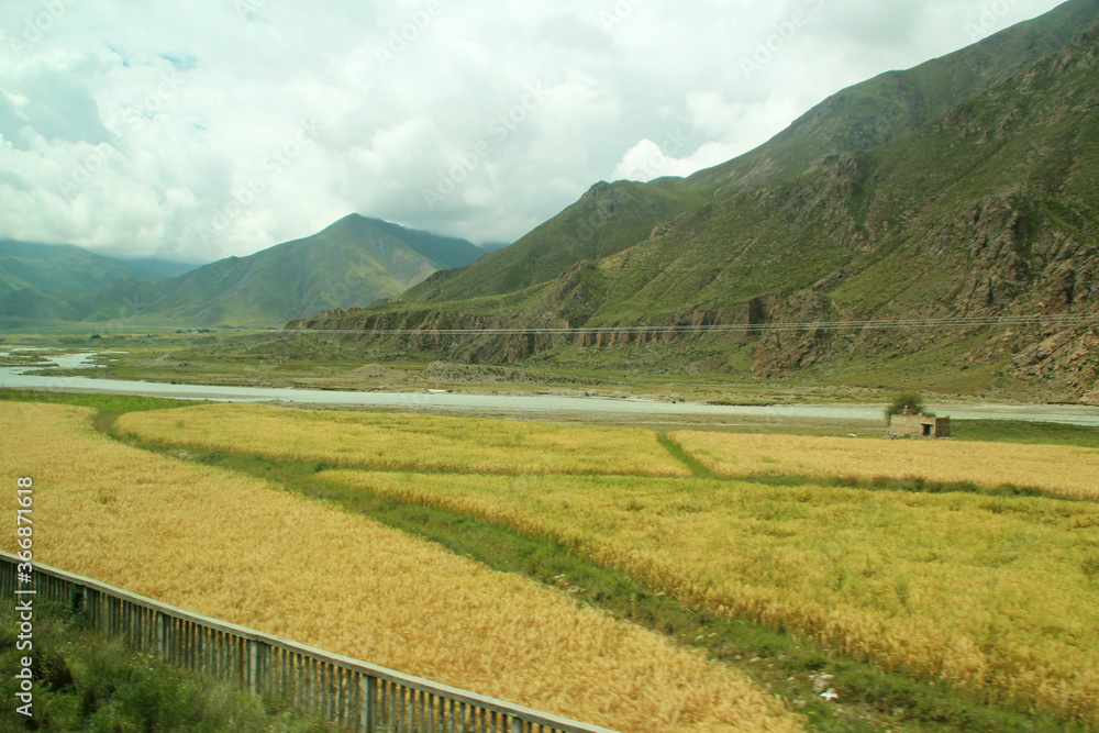
[[[121,640],[86,631],[82,619],[58,606],[34,604],[34,647],[18,651],[14,604],[0,601],[0,668],[34,659],[33,718],[15,712],[19,685],[0,678],[0,730],[191,731],[303,733],[333,731],[271,697],[255,697],[202,675],[167,666]]]

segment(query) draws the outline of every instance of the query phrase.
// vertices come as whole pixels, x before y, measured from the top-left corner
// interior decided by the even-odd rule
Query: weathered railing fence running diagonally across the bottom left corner
[[[0,552],[0,595],[15,565]],[[303,712],[365,733],[614,733],[404,675],[279,636],[208,619],[90,578],[34,564],[34,599],[81,610],[91,628],[166,662],[284,695]]]

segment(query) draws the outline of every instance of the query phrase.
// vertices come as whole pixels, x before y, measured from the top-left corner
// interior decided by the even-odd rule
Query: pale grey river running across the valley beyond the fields
[[[20,349],[24,351],[24,349]],[[7,352],[0,349],[0,356]],[[89,364],[96,353],[68,354],[48,358],[64,368],[96,368]],[[152,381],[49,377],[27,375],[32,367],[0,367],[0,387],[11,389],[104,392],[177,399],[230,402],[291,402],[326,406],[377,406],[440,408],[458,410],[506,410],[518,412],[603,412],[652,415],[820,418],[831,420],[880,421],[885,404],[779,404],[715,406],[693,402],[657,402],[642,399],[564,397],[556,395],[468,395],[456,392],[355,392],[274,387],[224,387],[169,385]],[[950,404],[930,406],[955,420],[1024,420],[1099,426],[1099,408],[1076,404]]]

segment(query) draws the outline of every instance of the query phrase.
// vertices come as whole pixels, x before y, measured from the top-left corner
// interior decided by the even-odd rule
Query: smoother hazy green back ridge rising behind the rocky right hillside
[[[774,138],[687,179],[599,182],[512,246],[402,293],[403,302],[492,296],[545,282],[585,259],[644,240],[654,226],[755,186],[806,174],[826,155],[866,151],[1062,48],[1099,15],[1099,0],[1074,0],[1041,18],[907,71],[889,71],[829,97]]]

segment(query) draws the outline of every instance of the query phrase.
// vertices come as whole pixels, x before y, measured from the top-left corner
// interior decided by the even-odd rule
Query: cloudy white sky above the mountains
[[[1057,0],[4,0],[0,238],[206,263],[357,212],[512,242]]]

